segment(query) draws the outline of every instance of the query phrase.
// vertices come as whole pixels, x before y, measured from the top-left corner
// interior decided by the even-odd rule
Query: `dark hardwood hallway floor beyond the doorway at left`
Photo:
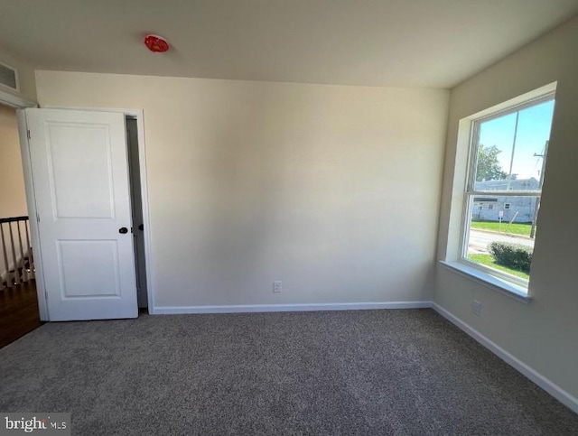
[[[0,348],[41,324],[36,281],[0,291]]]

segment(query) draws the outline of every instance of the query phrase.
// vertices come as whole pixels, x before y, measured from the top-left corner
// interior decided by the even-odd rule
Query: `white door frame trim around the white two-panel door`
[[[30,146],[28,144],[28,128],[26,125],[25,108],[39,107],[36,103],[26,100],[22,97],[0,90],[0,103],[7,106],[15,107],[18,120],[18,132],[20,135],[20,149],[22,153],[24,186],[26,190],[26,204],[28,206],[28,216],[30,217],[30,230],[33,247],[37,247],[34,253],[34,264],[36,265],[36,288],[38,293],[38,309],[40,319],[50,321],[50,313],[46,303],[46,292],[44,285],[42,253],[40,250],[40,233],[38,228],[38,219],[36,212],[36,197],[33,184],[32,162],[30,159]],[[136,119],[136,129],[138,135],[138,155],[139,169],[141,180],[141,198],[143,202],[143,224],[144,224],[144,269],[146,272],[146,298],[148,303],[148,312],[154,313],[154,288],[153,288],[153,271],[152,271],[152,250],[150,237],[150,218],[149,218],[149,201],[148,201],[148,184],[146,175],[146,153],[144,146],[144,111],[143,109],[122,109],[106,107],[55,107],[46,106],[42,108],[62,109],[62,110],[86,110],[93,112],[117,112],[124,116],[131,116]],[[128,150],[126,150],[128,153]],[[136,272],[136,271],[135,271]]]

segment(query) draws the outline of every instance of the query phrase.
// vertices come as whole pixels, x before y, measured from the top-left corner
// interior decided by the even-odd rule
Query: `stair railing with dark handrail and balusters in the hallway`
[[[0,218],[0,289],[34,278],[28,217]]]

